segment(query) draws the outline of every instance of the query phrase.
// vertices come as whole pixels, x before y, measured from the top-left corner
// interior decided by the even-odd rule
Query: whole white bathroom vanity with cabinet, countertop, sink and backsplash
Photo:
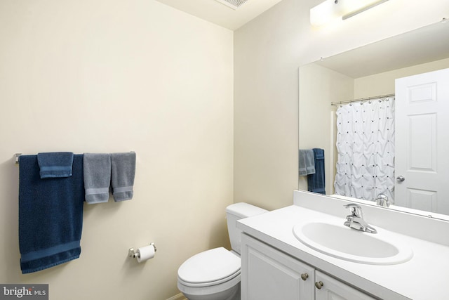
[[[362,203],[377,233],[359,232],[343,225],[349,203],[295,191],[292,206],[238,221],[242,299],[447,299],[448,221]]]

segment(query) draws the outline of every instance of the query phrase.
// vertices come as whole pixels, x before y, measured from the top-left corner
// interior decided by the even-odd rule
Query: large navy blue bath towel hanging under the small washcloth
[[[22,273],[77,259],[83,220],[83,155],[72,176],[41,179],[37,155],[19,158],[19,249]]]

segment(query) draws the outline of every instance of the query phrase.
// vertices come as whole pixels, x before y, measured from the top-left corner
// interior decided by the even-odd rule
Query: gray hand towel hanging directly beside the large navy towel
[[[111,182],[111,155],[109,153],[84,153],[84,189],[88,204],[109,200]]]

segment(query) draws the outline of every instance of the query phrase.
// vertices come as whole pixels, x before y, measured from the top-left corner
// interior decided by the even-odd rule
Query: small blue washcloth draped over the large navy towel
[[[72,152],[46,152],[37,154],[41,178],[72,176]]]

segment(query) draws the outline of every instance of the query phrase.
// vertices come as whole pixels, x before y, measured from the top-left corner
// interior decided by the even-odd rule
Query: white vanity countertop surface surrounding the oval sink
[[[449,298],[448,246],[394,233],[397,242],[406,243],[413,249],[413,257],[409,261],[390,266],[344,261],[307,247],[293,235],[293,226],[300,221],[323,218],[337,217],[292,205],[240,220],[237,227],[244,233],[380,299]],[[345,215],[341,217],[341,221],[344,223]]]

